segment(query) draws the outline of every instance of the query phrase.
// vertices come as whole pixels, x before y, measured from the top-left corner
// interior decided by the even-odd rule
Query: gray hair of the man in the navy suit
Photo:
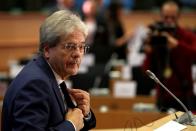
[[[40,27],[40,53],[43,53],[45,45],[50,48],[55,47],[63,35],[66,36],[76,29],[82,31],[87,37],[87,26],[78,15],[69,10],[54,12],[46,18]]]

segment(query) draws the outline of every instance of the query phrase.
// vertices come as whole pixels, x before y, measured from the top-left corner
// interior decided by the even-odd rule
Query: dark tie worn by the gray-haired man
[[[63,92],[63,95],[64,95],[65,101],[67,103],[67,106],[69,108],[75,108],[76,106],[73,104],[73,102],[71,100],[71,97],[70,97],[70,95],[68,93],[67,86],[66,86],[65,82],[62,82],[60,84],[60,87],[61,87],[61,90]]]

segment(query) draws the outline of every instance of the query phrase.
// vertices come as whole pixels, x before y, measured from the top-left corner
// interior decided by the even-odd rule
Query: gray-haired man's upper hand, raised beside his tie
[[[82,110],[84,116],[90,112],[90,95],[88,92],[80,89],[69,89],[70,95],[76,101],[78,108]]]

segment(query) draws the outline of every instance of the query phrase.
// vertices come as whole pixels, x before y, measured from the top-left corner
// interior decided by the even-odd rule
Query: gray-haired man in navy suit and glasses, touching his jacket
[[[86,37],[85,24],[70,11],[57,11],[43,22],[40,54],[12,81],[5,95],[2,131],[86,131],[95,127],[89,94],[65,88],[77,104],[70,108],[68,103],[73,102],[61,90],[62,82],[78,72],[88,48]]]

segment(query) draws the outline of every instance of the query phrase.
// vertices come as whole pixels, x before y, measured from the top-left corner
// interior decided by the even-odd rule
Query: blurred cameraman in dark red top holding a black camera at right
[[[179,26],[180,10],[169,1],[161,8],[161,22],[150,26],[146,41],[144,69],[152,70],[160,80],[191,110],[196,110],[191,66],[196,60],[196,35]],[[163,88],[157,88],[157,105],[161,111],[183,110]]]

